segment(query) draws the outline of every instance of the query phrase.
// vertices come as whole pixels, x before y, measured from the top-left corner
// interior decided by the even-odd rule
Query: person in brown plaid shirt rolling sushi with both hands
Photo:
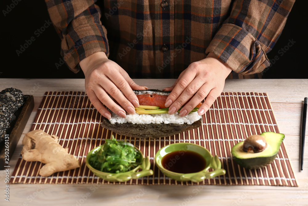
[[[169,114],[186,116],[203,99],[203,115],[226,78],[258,77],[294,0],[46,1],[71,70],[85,74],[86,93],[107,119],[139,106],[131,78],[177,78],[167,87]],[[99,2],[96,2],[97,4]],[[109,58],[109,59],[108,59]],[[111,95],[119,104],[116,104]],[[106,106],[104,107],[103,104]]]

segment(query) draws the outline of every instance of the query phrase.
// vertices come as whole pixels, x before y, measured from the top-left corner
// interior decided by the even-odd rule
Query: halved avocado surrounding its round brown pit
[[[243,151],[244,141],[237,143],[231,149],[233,160],[246,169],[259,169],[272,163],[277,157],[280,145],[285,138],[284,134],[275,132],[263,132],[260,134],[267,142],[265,150],[259,153]]]

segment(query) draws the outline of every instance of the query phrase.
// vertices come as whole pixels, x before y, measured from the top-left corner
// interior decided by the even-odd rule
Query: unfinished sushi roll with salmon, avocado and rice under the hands
[[[101,126],[120,135],[136,138],[159,138],[179,134],[202,125],[197,110],[202,103],[188,115],[181,117],[179,112],[169,115],[165,107],[170,92],[160,90],[134,90],[139,107],[135,114],[127,114],[125,118],[111,111],[111,118],[102,120]]]

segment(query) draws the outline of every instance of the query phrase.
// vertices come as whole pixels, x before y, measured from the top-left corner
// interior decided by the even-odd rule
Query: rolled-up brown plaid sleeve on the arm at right
[[[266,53],[278,40],[294,1],[235,1],[206,53],[214,53],[237,73],[261,72],[270,65]]]

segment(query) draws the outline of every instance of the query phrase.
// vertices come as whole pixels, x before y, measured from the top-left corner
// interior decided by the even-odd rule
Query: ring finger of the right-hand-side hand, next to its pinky
[[[180,116],[186,116],[189,112],[191,112],[202,100],[205,99],[205,97],[209,94],[211,91],[211,87],[209,84],[203,84],[200,89],[197,91],[197,93],[193,96],[191,100],[180,111]],[[184,113],[184,111],[186,111]],[[182,113],[182,114],[181,114]]]

